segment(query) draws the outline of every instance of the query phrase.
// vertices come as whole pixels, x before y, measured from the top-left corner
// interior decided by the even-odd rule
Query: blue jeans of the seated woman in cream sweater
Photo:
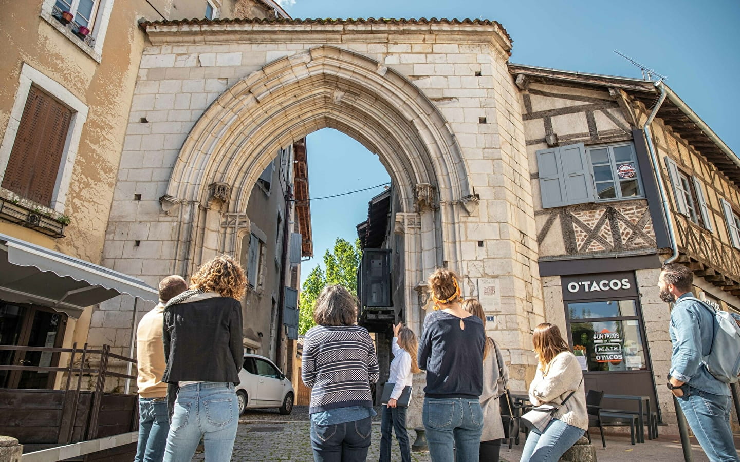
[[[554,418],[542,433],[536,428],[530,429],[519,462],[557,462],[585,432],[585,429]]]

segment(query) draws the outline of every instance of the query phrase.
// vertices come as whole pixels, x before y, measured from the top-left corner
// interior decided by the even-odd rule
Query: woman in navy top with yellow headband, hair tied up
[[[423,421],[429,455],[432,462],[478,462],[485,329],[478,316],[462,309],[454,271],[434,271],[428,285],[434,311],[424,319],[418,362],[426,370]]]

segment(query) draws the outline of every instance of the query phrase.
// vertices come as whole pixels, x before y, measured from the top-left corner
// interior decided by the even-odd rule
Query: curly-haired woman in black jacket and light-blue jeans
[[[174,413],[166,462],[190,461],[201,437],[207,461],[231,460],[239,424],[234,387],[244,361],[240,299],[245,288],[243,269],[223,255],[198,268],[189,291],[164,308],[162,381],[177,393],[169,399]]]

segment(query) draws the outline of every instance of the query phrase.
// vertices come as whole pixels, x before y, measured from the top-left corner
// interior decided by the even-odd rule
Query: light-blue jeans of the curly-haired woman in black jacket
[[[234,384],[202,382],[181,387],[169,426],[164,462],[190,462],[201,437],[206,461],[229,462],[238,425]]]

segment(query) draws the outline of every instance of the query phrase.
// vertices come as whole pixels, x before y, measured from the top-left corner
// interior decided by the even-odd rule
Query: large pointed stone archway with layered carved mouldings
[[[238,216],[274,153],[327,127],[376,153],[397,186],[407,321],[419,330],[414,288],[439,265],[457,267],[458,208],[472,211],[477,199],[437,107],[398,72],[337,47],[266,64],[223,92],[192,128],[166,189],[166,200],[181,204],[188,217],[180,224],[190,237],[189,247],[178,249],[180,264],[190,269],[218,252],[235,252],[247,225]],[[214,233],[223,234],[208,236]]]

